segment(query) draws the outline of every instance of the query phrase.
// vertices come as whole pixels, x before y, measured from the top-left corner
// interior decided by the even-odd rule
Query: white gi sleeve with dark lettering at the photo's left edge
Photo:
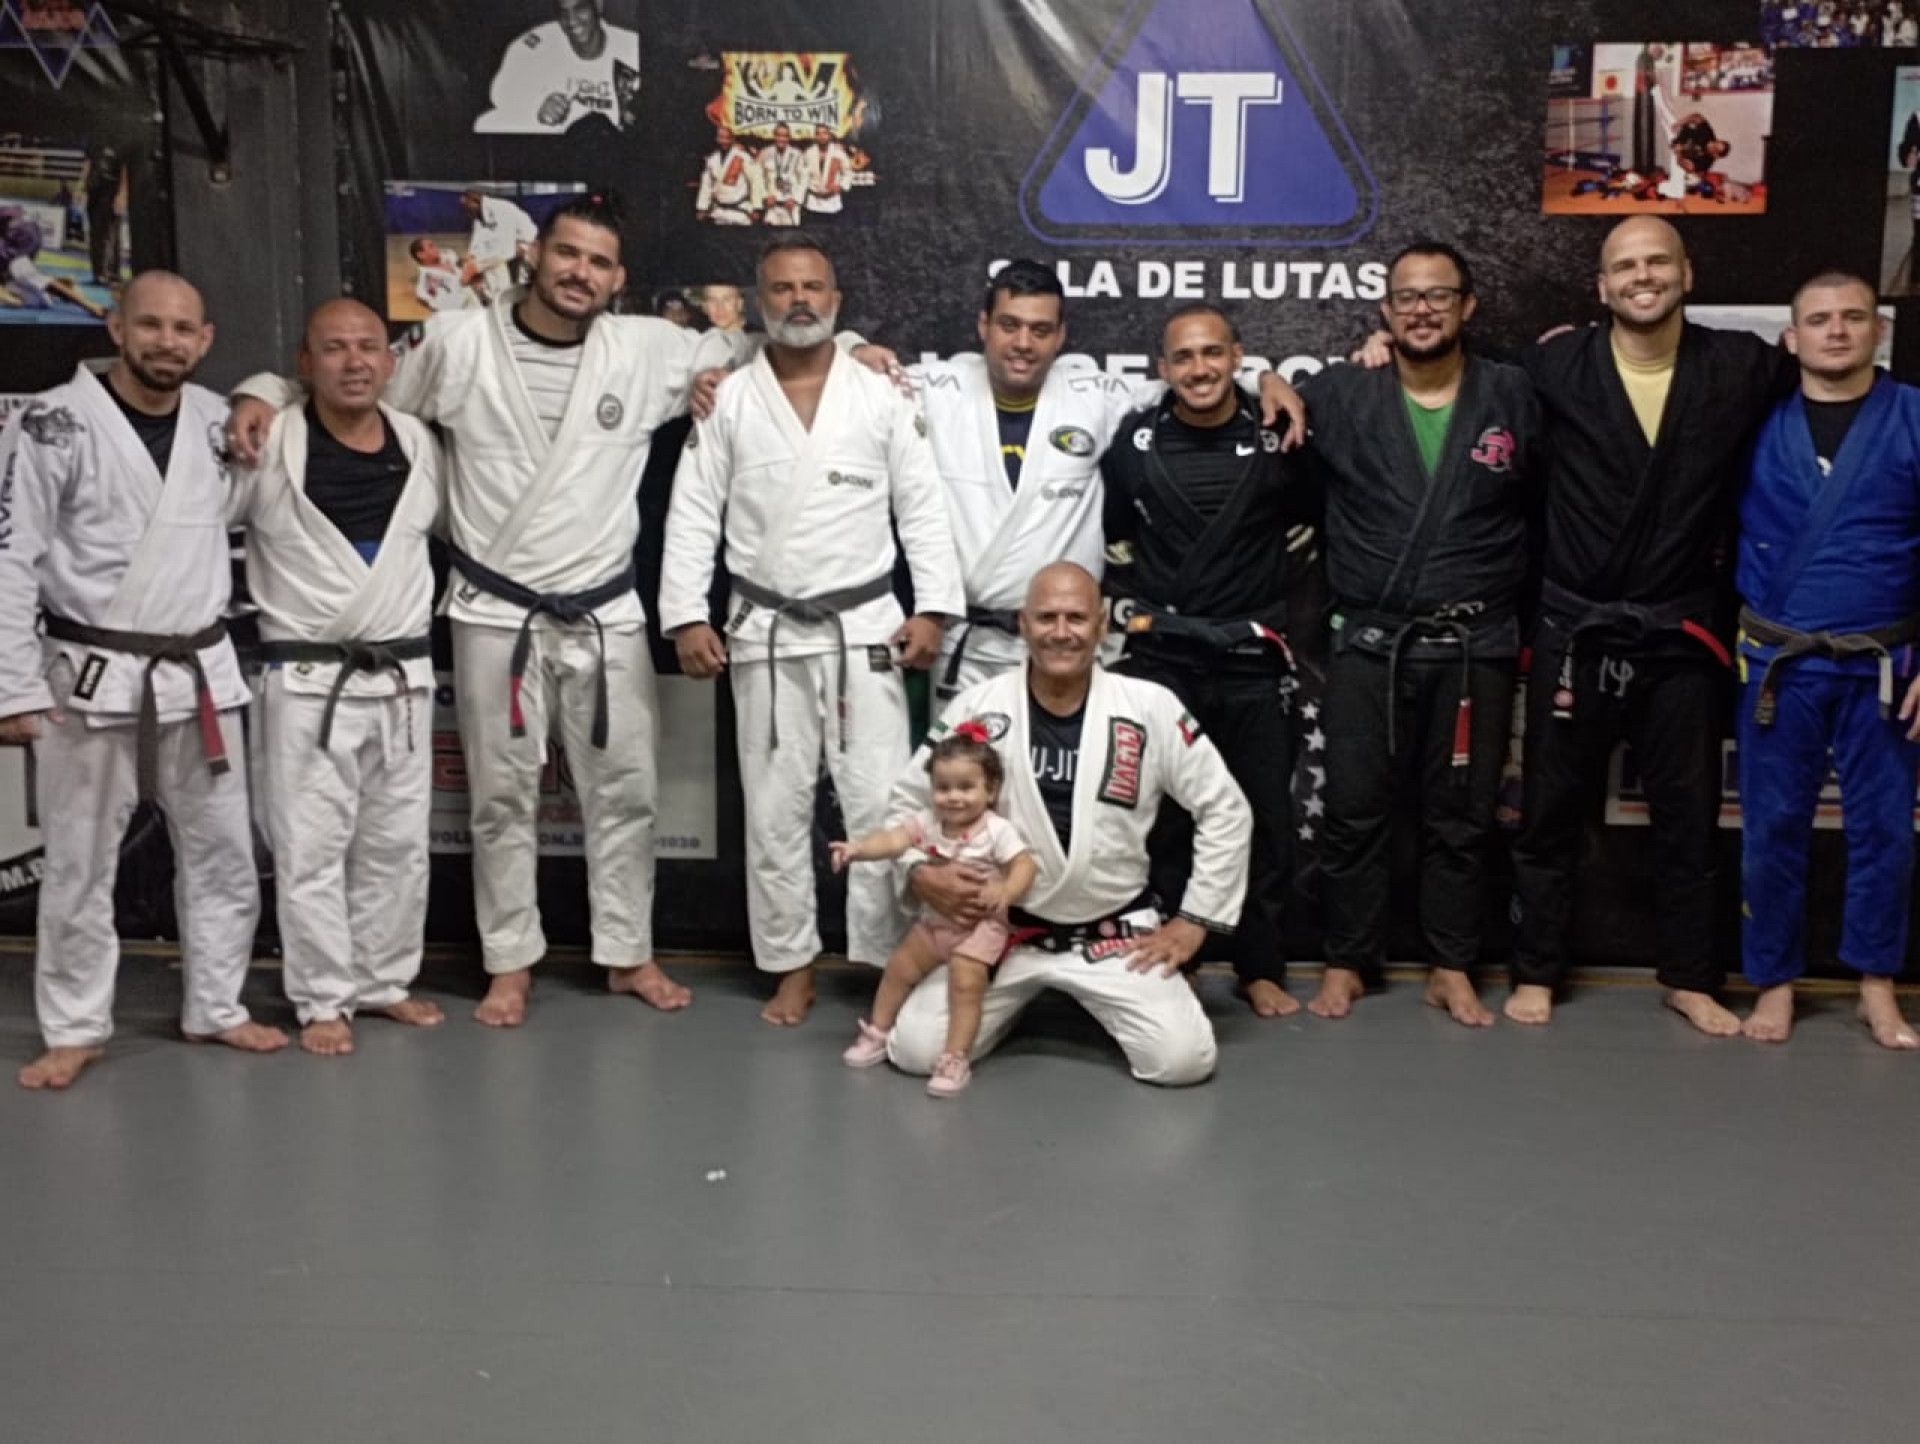
[[[36,620],[40,559],[60,517],[63,469],[58,465],[61,451],[21,430],[25,415],[0,430],[0,716],[44,712],[54,705]],[[73,445],[79,438],[69,436],[67,447]]]

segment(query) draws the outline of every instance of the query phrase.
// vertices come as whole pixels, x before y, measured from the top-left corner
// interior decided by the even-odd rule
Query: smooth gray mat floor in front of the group
[[[1920,1056],[1837,997],[1763,1048],[1647,987],[1469,1033],[1210,974],[1202,1089],[1062,1004],[935,1102],[839,1066],[864,974],[799,1031],[682,975],[323,1062],[171,1041],[129,962],[104,1068],[0,1089],[0,1438],[1914,1438]],[[0,956],[10,1071],[27,1014]]]

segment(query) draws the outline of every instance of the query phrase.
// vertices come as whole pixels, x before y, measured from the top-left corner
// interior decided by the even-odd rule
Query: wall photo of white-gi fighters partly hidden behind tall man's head
[[[386,319],[490,305],[522,284],[540,223],[582,184],[388,180]]]

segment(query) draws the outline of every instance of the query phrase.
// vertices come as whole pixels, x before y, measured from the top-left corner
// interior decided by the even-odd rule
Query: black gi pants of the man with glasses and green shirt
[[[1336,641],[1338,647],[1338,641]],[[1473,728],[1467,766],[1453,766],[1459,659],[1402,657],[1394,734],[1386,741],[1386,659],[1336,649],[1327,668],[1321,722],[1327,732],[1327,830],[1321,872],[1327,901],[1327,966],[1352,968],[1377,987],[1386,964],[1392,897],[1394,803],[1419,795],[1419,916],[1427,962],[1471,972],[1486,918],[1486,847],[1513,718],[1511,659],[1467,668]]]

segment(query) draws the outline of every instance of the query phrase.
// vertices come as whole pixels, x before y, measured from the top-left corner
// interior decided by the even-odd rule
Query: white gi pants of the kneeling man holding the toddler
[[[1142,1083],[1181,1087],[1213,1073],[1213,1025],[1179,974],[1127,972],[1125,958],[1087,962],[1079,952],[1016,947],[981,1000],[973,1058],[985,1058],[1046,989],[1060,989],[1104,1027]],[[947,968],[920,979],[887,1037],[887,1056],[906,1073],[931,1073],[947,1048]]]

